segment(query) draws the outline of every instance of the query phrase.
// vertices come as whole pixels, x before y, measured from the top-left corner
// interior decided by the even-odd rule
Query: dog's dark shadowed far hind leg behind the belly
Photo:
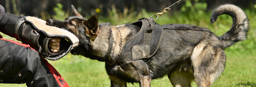
[[[194,79],[193,68],[189,60],[181,64],[177,70],[168,74],[168,78],[174,87],[190,87],[191,81]]]

